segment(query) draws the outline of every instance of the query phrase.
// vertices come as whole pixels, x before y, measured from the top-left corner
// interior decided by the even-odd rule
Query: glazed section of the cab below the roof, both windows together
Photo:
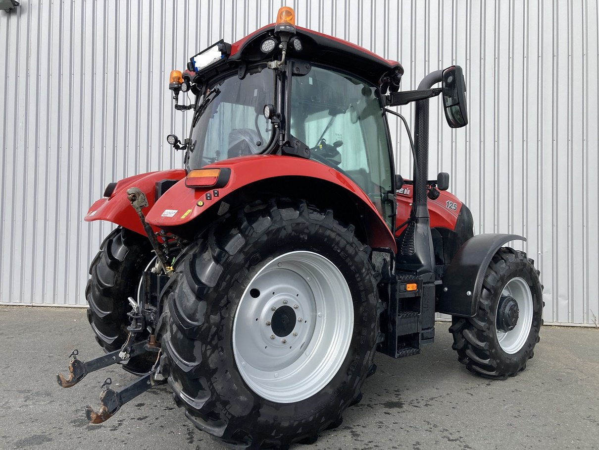
[[[355,182],[391,228],[392,153],[377,86],[324,65],[293,58],[287,64],[301,67],[291,70],[291,82],[286,73],[277,76],[266,62],[257,62],[244,68],[243,77],[232,68],[202,84],[187,170],[239,156],[298,155]],[[277,113],[277,101],[287,115]],[[289,142],[304,152],[290,151]]]

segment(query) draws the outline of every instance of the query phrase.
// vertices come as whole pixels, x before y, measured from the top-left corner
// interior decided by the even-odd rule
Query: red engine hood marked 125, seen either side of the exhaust
[[[397,216],[395,217],[395,226],[404,223],[410,217],[412,211],[412,197],[414,189],[412,185],[404,185],[401,193],[396,194],[397,199]],[[458,220],[459,211],[462,209],[462,202],[456,196],[447,191],[439,191],[440,195],[436,200],[428,199],[428,214],[431,218],[431,228],[442,227],[450,230],[455,229],[455,223]],[[447,207],[447,202],[453,202],[456,205],[455,211],[453,208]],[[395,236],[399,236],[403,232],[404,227],[397,230]]]

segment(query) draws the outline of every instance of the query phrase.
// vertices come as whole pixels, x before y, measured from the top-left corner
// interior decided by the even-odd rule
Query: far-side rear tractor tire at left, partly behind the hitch
[[[129,335],[127,298],[137,299],[142,273],[153,257],[152,244],[145,236],[119,227],[104,239],[90,265],[85,289],[87,320],[106,352],[120,349]],[[152,355],[133,356],[122,366],[136,375],[146,373],[156,360],[148,358]]]

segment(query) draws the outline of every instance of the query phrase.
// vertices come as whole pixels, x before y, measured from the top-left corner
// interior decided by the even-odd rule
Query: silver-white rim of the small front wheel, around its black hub
[[[497,329],[497,340],[501,349],[506,353],[516,353],[526,343],[531,326],[533,325],[533,294],[523,278],[516,277],[508,281],[501,295],[509,295],[518,303],[518,322],[510,331]],[[495,313],[495,323],[497,323]]]

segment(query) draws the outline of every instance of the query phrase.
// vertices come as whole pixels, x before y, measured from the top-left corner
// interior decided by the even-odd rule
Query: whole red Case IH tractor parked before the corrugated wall
[[[90,422],[168,382],[187,418],[235,448],[314,442],[360,401],[376,352],[431,344],[450,314],[468,370],[506,379],[539,341],[539,271],[474,236],[468,208],[428,177],[429,98],[467,124],[459,66],[399,91],[403,67],[346,41],[277,23],[219,41],[171,73],[189,135],[184,169],[108,185],[85,220],[118,227],[90,267],[87,315],[106,354],[63,387],[121,364],[140,378],[101,394]],[[441,87],[432,87],[441,83]],[[195,101],[179,104],[179,93]],[[395,174],[387,114],[415,102],[412,180]]]

